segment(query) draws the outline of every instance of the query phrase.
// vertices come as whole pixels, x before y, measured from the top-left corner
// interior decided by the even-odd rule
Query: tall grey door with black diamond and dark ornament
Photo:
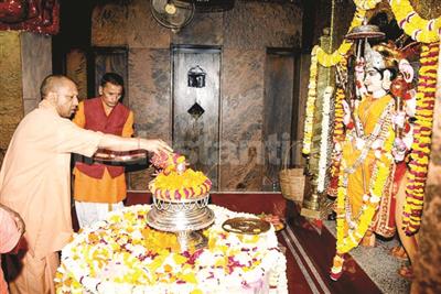
[[[217,189],[220,50],[174,47],[172,54],[173,148]]]

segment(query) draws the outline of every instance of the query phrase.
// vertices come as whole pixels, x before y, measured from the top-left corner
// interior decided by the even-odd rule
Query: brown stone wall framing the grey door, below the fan
[[[235,8],[227,12],[196,12],[186,28],[173,33],[154,21],[149,1],[132,0],[96,7],[92,23],[94,46],[128,48],[128,99],[138,133],[169,142],[170,47],[220,46],[219,189],[261,189],[266,50],[300,47],[302,10],[297,4],[236,1]],[[131,188],[147,187],[144,171],[130,177]]]

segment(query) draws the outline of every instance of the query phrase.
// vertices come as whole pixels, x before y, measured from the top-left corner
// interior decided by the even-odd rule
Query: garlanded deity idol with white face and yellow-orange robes
[[[375,241],[374,231],[386,237],[395,233],[390,196],[396,163],[402,161],[407,149],[400,105],[409,97],[409,81],[391,85],[397,74],[400,80],[412,74],[409,67],[399,66],[401,57],[390,44],[373,48],[366,44],[365,57],[355,68],[361,100],[351,106],[344,102],[346,138],[336,146],[342,155],[335,206],[336,254],[331,269],[334,281],[342,275],[345,253],[362,240]]]

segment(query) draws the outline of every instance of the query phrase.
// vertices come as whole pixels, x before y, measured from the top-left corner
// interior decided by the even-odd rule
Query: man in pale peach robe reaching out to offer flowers
[[[56,251],[72,237],[72,152],[92,156],[98,146],[171,150],[160,140],[122,139],[78,128],[67,119],[78,105],[78,91],[64,76],[47,77],[41,92],[42,102],[20,122],[0,171],[0,203],[23,218],[29,248],[20,274],[10,283],[11,293],[54,293]]]

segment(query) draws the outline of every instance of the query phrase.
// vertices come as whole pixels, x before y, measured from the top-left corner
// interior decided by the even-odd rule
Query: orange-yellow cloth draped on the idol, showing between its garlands
[[[374,131],[376,123],[391,99],[388,95],[379,99],[367,97],[359,104],[358,117],[366,135]],[[390,130],[390,133],[395,137],[394,130]],[[348,175],[347,196],[351,198],[352,215],[354,217],[358,215],[363,205],[363,195],[369,193],[372,172],[376,161],[374,152],[374,150],[369,150],[364,163],[358,166],[355,173]],[[346,166],[352,166],[359,154],[361,150],[355,146],[355,142],[346,141],[343,145],[343,157],[346,161]]]

